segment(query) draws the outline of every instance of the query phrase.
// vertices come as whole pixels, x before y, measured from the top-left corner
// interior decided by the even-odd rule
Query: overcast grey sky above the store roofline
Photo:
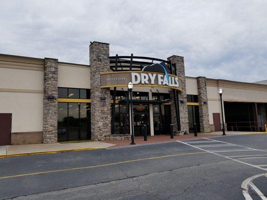
[[[0,0],[0,53],[89,64],[110,55],[184,56],[187,76],[267,79],[267,0]]]

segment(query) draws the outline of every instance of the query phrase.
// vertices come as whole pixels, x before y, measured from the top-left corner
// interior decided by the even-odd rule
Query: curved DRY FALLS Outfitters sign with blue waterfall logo
[[[134,86],[168,87],[182,91],[180,77],[168,72],[164,62],[145,66],[141,71],[101,72],[101,87],[126,87],[131,81]]]

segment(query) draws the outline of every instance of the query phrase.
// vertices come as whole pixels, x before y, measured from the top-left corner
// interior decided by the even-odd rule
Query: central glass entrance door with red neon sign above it
[[[142,136],[143,133],[143,125],[147,125],[147,134],[150,134],[150,121],[149,121],[149,105],[139,104],[133,105],[133,112],[134,112],[134,135],[135,136]]]

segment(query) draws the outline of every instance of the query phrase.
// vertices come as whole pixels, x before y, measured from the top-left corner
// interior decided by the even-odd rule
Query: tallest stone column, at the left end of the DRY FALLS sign
[[[103,140],[111,134],[110,88],[101,88],[100,72],[110,71],[109,44],[96,42],[90,44],[91,68],[91,136]]]

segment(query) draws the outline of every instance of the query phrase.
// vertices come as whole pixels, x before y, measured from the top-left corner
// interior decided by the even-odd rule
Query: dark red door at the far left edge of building
[[[12,113],[0,113],[0,146],[11,144]]]

